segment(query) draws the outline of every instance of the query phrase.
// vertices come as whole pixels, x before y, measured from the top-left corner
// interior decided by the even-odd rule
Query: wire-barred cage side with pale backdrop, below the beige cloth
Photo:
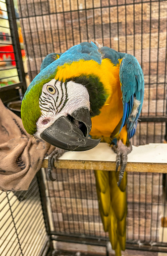
[[[39,256],[47,241],[37,179],[27,191],[0,193],[0,255]]]

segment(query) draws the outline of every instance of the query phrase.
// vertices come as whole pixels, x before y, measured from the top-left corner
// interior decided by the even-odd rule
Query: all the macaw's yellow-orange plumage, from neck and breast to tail
[[[119,65],[113,65],[111,60],[103,59],[101,64],[89,60],[64,64],[57,68],[55,79],[63,80],[81,75],[94,75],[103,83],[108,98],[98,116],[92,118],[92,138],[102,138],[101,141],[111,143],[116,137],[124,144],[127,141],[127,130],[124,126],[119,132],[122,116],[122,92],[119,81]],[[95,170],[99,211],[104,231],[109,232],[112,249],[116,256],[121,256],[125,250],[126,240],[126,173],[117,186],[118,173],[115,171]]]

